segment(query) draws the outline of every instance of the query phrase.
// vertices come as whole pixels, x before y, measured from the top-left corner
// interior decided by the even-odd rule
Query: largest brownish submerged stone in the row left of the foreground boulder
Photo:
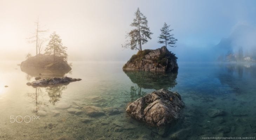
[[[83,106],[82,110],[85,111],[85,113],[90,117],[98,117],[105,115],[104,111],[102,111],[100,107],[93,105]]]

